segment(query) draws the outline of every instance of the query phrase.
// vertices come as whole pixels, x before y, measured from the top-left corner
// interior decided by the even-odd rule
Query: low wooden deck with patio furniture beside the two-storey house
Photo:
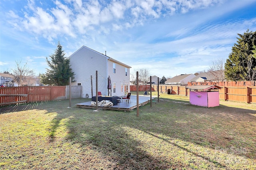
[[[153,97],[152,97],[153,99]],[[139,106],[144,106],[150,102],[150,96],[139,96]],[[96,106],[91,106],[91,102],[84,102],[76,104],[77,107],[83,107],[88,109],[96,109]],[[132,111],[132,109],[137,108],[137,96],[131,95],[130,102],[125,100],[121,101],[119,104],[114,106],[100,107],[98,109],[108,109],[108,110],[123,110],[123,111]]]

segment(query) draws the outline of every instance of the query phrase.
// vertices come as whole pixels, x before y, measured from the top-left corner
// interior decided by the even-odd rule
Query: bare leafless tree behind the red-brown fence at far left
[[[18,84],[18,86],[22,86],[26,80],[28,80],[28,78],[34,75],[34,70],[27,67],[27,62],[23,66],[21,65],[21,60],[15,61],[15,63],[16,68],[11,68],[14,81]]]

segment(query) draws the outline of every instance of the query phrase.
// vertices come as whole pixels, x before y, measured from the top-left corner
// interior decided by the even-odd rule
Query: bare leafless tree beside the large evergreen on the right
[[[214,59],[212,61],[212,64],[210,65],[210,69],[208,70],[208,72],[216,81],[224,81],[224,59]]]

